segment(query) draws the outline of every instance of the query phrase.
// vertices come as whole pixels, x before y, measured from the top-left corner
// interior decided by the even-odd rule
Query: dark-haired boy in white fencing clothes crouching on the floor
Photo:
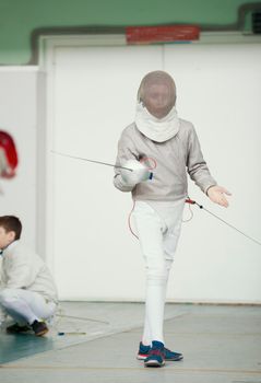
[[[19,218],[0,217],[0,306],[15,321],[8,333],[43,336],[58,305],[57,289],[43,259],[21,243],[21,232]]]

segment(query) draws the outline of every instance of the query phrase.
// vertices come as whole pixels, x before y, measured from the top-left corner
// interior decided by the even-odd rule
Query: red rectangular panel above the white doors
[[[126,28],[128,44],[171,43],[199,38],[200,27],[197,25],[128,26]]]

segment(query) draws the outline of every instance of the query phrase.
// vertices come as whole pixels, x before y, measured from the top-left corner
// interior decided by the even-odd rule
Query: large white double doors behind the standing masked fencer
[[[112,186],[110,167],[51,154],[115,162],[121,130],[150,70],[176,80],[180,117],[193,121],[212,174],[230,208],[190,196],[261,237],[259,216],[260,45],[57,46],[47,66],[47,260],[61,299],[142,300],[144,270],[127,225],[132,201]],[[168,299],[261,302],[260,246],[193,208],[183,224]],[[187,218],[187,212],[186,217]]]

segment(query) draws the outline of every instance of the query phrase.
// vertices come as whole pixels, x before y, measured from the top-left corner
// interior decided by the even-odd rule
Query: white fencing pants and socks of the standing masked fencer
[[[180,235],[185,200],[137,201],[133,210],[146,269],[145,323],[142,343],[164,343],[164,305],[169,270]]]

